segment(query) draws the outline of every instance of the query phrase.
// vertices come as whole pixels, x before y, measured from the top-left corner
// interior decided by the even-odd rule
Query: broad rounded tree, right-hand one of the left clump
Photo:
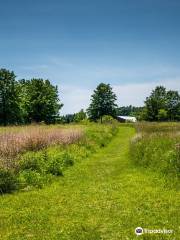
[[[22,109],[28,121],[53,123],[63,106],[59,102],[58,88],[49,80],[22,80]]]

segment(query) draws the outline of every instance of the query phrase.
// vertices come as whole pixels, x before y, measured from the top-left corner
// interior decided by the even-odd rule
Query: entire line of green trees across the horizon
[[[16,80],[13,71],[0,69],[0,124],[28,124],[32,122],[71,123],[86,118],[102,122],[103,116],[136,116],[146,121],[179,121],[180,95],[178,91],[157,86],[143,107],[116,104],[117,96],[110,84],[100,83],[91,96],[87,111],[60,116],[63,104],[58,88],[41,78]]]

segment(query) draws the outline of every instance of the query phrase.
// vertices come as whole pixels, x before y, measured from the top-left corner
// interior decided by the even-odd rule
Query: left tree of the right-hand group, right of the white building
[[[158,86],[151,92],[151,95],[146,98],[145,107],[147,119],[149,121],[157,121],[160,109],[166,109],[166,89],[163,86]]]

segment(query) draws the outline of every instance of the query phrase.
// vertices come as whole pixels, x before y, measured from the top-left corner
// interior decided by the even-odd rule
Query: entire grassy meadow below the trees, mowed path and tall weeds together
[[[1,128],[9,146],[1,147],[1,177],[10,174],[1,189],[5,179],[14,187],[1,190],[0,239],[180,239],[179,129],[179,123]],[[136,236],[139,226],[173,233]]]

